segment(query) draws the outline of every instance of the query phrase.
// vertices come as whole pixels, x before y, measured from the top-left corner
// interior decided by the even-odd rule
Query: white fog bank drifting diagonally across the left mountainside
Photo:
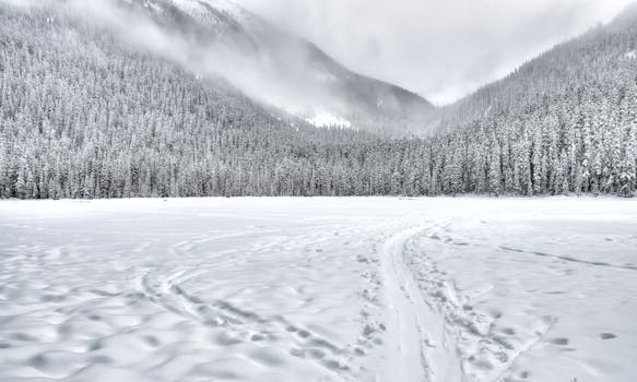
[[[128,0],[127,0],[128,1]],[[203,80],[229,84],[257,102],[288,112],[305,112],[310,105],[327,102],[322,89],[303,84],[299,79],[307,58],[295,47],[282,47],[276,53],[288,65],[281,70],[262,51],[244,49],[240,36],[224,34],[223,39],[197,35],[196,28],[170,27],[152,19],[149,12],[132,11],[113,0],[0,0],[13,5],[56,7],[73,17],[90,20],[113,33],[122,45],[150,52],[179,65]],[[129,1],[130,2],[130,1]],[[233,38],[237,38],[233,40]],[[331,105],[333,107],[334,105]],[[309,111],[308,111],[309,112]]]

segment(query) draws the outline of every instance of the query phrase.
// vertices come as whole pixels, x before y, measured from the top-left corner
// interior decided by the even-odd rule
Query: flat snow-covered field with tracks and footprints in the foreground
[[[0,381],[637,380],[637,201],[0,202]]]

